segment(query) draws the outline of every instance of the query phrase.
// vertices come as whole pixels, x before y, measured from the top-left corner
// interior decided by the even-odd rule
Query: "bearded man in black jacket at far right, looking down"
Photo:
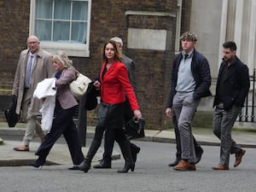
[[[236,154],[234,166],[239,166],[246,152],[232,139],[231,131],[250,87],[248,68],[236,56],[235,42],[225,42],[223,54],[213,102],[213,133],[220,139],[220,160],[213,170],[229,170],[230,154]]]

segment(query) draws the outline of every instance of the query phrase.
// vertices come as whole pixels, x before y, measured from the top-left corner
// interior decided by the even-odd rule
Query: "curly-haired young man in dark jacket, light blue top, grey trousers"
[[[175,170],[195,171],[195,143],[191,121],[201,98],[211,96],[211,73],[207,58],[195,50],[197,36],[184,32],[180,38],[183,50],[172,62],[171,91],[166,105],[166,116],[176,115],[181,145],[181,160]]]

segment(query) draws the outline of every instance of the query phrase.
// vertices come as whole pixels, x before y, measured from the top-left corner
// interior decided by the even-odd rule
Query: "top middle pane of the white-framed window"
[[[55,0],[55,20],[70,20],[70,1]]]

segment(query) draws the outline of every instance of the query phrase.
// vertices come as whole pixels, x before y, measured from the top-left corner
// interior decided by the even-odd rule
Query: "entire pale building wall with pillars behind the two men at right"
[[[213,80],[218,76],[222,44],[231,40],[236,42],[236,55],[247,65],[250,75],[253,74],[256,67],[255,15],[256,0],[192,0],[190,31],[198,35],[196,49],[206,55]],[[213,96],[214,83],[211,86]],[[203,99],[199,110],[212,111],[213,96]]]

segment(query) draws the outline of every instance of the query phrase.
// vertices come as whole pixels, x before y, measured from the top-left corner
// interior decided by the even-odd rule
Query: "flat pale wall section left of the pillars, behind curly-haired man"
[[[190,30],[198,36],[196,49],[205,55],[212,78],[218,74],[218,47],[222,0],[192,0]]]

